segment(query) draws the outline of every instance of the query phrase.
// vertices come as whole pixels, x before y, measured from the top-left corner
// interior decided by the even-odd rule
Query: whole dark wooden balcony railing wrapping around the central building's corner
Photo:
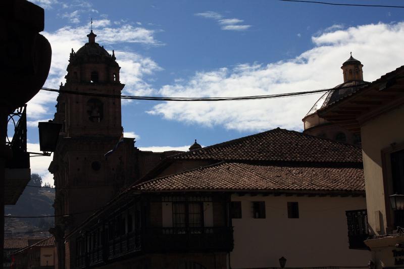
[[[142,234],[144,233],[144,234]],[[107,244],[77,253],[76,267],[96,267],[135,252],[231,251],[232,227],[148,228],[107,240]],[[77,246],[86,249],[84,239]]]

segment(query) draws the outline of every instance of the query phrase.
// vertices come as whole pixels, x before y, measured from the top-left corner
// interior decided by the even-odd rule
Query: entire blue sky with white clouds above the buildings
[[[277,0],[33,2],[45,9],[42,34],[53,49],[45,86],[51,88],[65,82],[69,53],[87,42],[91,18],[96,42],[115,50],[123,94],[245,96],[330,88],[342,82],[340,66],[350,51],[367,81],[404,64],[403,9]],[[37,122],[53,118],[56,97],[40,92],[28,104],[31,151],[38,151]],[[123,127],[140,149],[186,150],[194,139],[206,146],[276,127],[301,131],[301,118],[319,97],[124,102]],[[49,160],[31,158],[31,170],[53,184]]]

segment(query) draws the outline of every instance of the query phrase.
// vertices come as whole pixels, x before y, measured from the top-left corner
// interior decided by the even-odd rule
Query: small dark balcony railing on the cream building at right
[[[366,249],[364,241],[369,237],[366,209],[346,211],[349,248]]]

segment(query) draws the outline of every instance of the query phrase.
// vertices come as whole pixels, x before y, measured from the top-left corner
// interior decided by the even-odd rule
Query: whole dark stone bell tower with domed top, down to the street
[[[133,138],[108,158],[123,133],[120,67],[112,55],[87,35],[88,42],[70,53],[66,84],[61,84],[54,122],[63,125],[49,171],[54,174],[58,268],[70,268],[64,237],[120,190],[136,180]],[[66,255],[70,257],[70,255]]]

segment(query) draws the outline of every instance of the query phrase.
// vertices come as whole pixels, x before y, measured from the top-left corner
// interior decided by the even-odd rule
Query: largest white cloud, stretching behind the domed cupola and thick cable
[[[373,81],[404,63],[404,22],[335,27],[312,38],[314,47],[287,61],[240,64],[197,72],[160,89],[163,96],[246,96],[330,88],[343,81],[340,66],[352,55]],[[301,130],[301,119],[320,95],[254,101],[163,102],[148,113],[164,119],[239,131],[276,127]]]

